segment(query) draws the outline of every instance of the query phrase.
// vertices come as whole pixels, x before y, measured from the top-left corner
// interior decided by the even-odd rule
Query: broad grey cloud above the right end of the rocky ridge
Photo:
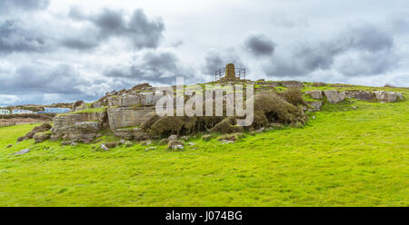
[[[348,60],[353,52],[355,57]],[[326,42],[294,44],[287,53],[274,54],[263,69],[272,76],[295,77],[331,69],[356,76],[384,73],[395,61],[393,36],[372,24],[360,24]]]

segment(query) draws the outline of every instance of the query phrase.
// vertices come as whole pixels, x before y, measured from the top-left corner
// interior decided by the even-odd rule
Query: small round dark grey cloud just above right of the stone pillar
[[[274,43],[263,34],[253,34],[245,40],[244,48],[254,56],[268,56],[274,52]]]

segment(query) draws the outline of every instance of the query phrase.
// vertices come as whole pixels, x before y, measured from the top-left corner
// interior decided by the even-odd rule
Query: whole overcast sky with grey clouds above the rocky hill
[[[407,0],[1,0],[0,105],[94,101],[137,83],[409,86]]]

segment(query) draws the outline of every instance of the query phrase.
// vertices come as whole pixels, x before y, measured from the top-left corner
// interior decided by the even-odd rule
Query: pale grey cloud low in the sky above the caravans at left
[[[86,79],[85,74],[69,64],[24,64],[14,72],[0,73],[0,104],[2,96],[18,96],[17,103],[93,101],[124,83],[104,77]]]

